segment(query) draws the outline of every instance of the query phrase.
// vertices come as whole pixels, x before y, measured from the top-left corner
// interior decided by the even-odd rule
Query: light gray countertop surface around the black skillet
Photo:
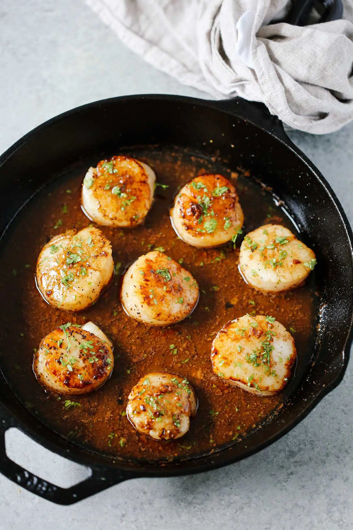
[[[80,0],[0,2],[0,152],[44,120],[90,101],[136,93],[207,97],[124,48]],[[353,219],[353,124],[327,136],[290,133]],[[353,528],[353,364],[339,387],[282,439],[200,475],[124,482],[61,507],[0,475],[0,528]],[[67,487],[87,475],[12,430],[7,451]],[[44,510],[44,511],[42,511]]]

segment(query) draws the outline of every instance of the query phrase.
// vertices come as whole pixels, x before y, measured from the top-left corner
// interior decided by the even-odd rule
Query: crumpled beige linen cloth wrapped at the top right
[[[353,0],[346,20],[306,27],[273,23],[290,0],[84,1],[150,64],[214,98],[263,101],[315,134],[353,119]]]

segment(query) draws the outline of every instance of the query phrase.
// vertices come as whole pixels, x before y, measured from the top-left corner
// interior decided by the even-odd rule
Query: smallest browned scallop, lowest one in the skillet
[[[156,440],[180,438],[189,430],[197,399],[187,379],[155,373],[142,377],[128,398],[126,414],[136,430]]]

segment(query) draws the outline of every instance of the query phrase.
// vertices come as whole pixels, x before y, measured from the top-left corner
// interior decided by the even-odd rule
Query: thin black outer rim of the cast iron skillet
[[[5,163],[8,160],[8,158],[11,157],[18,149],[20,149],[30,138],[37,135],[39,131],[43,129],[47,129],[48,127],[51,127],[56,122],[66,117],[74,116],[75,114],[78,114],[80,112],[85,112],[86,110],[89,110],[89,109],[103,107],[106,104],[112,104],[112,103],[123,104],[124,102],[127,102],[127,101],[141,101],[141,100],[153,101],[156,103],[158,101],[167,101],[170,103],[182,103],[182,104],[187,103],[187,104],[193,104],[197,107],[213,108],[216,111],[230,114],[234,118],[240,118],[242,120],[248,121],[249,123],[252,123],[252,125],[254,125],[257,128],[260,128],[265,133],[269,134],[271,137],[278,140],[280,143],[284,144],[287,148],[291,149],[291,151],[294,152],[295,156],[299,157],[300,161],[309,167],[311,172],[314,174],[315,178],[318,180],[319,184],[327,192],[329,198],[331,199],[331,202],[336,208],[340,216],[342,225],[343,225],[342,226],[343,231],[345,231],[346,241],[348,240],[348,243],[349,243],[350,254],[351,254],[351,267],[353,268],[353,233],[352,233],[352,229],[349,224],[348,218],[345,214],[345,211],[343,210],[336,194],[332,190],[330,184],[321,174],[321,172],[316,168],[316,166],[309,160],[309,158],[306,157],[306,155],[301,151],[301,149],[299,149],[295,144],[293,144],[292,140],[288,138],[288,136],[285,134],[282,123],[276,117],[271,116],[268,110],[266,109],[265,105],[263,104],[248,102],[245,100],[241,100],[240,98],[239,99],[237,98],[236,100],[214,101],[214,100],[203,100],[200,98],[191,98],[188,96],[167,95],[167,94],[128,95],[128,96],[119,96],[116,98],[107,98],[103,100],[86,103],[74,109],[70,109],[66,112],[58,114],[58,116],[50,118],[49,120],[45,121],[41,125],[29,131],[29,133],[22,136],[22,138],[17,140],[17,142],[15,142],[12,146],[6,149],[6,151],[0,156],[0,171],[1,171],[1,166],[3,165],[3,163]],[[353,304],[353,299],[351,303]],[[142,465],[135,464],[135,470],[133,470],[133,466],[131,464],[126,463],[126,462],[116,462],[115,464],[112,464],[112,465],[109,465],[108,462],[106,464],[97,463],[97,462],[92,463],[92,457],[94,458],[95,453],[92,453],[92,452],[89,453],[89,452],[83,451],[82,448],[80,448],[79,446],[76,446],[75,444],[70,443],[68,440],[61,438],[60,435],[57,435],[54,431],[46,427],[42,422],[40,422],[39,419],[32,416],[32,414],[27,409],[24,408],[24,406],[19,402],[19,400],[16,398],[15,394],[12,391],[11,391],[12,393],[11,399],[15,398],[15,400],[17,400],[18,403],[20,404],[20,414],[17,414],[13,410],[11,411],[11,407],[13,408],[14,405],[10,403],[10,406],[8,406],[7,404],[3,402],[2,398],[0,397],[0,405],[2,405],[2,407],[6,410],[5,419],[3,420],[3,428],[0,429],[0,431],[3,431],[5,433],[5,431],[10,427],[17,427],[20,430],[22,430],[26,435],[29,435],[32,439],[37,441],[39,444],[48,448],[50,451],[53,451],[61,456],[64,456],[71,461],[86,465],[93,470],[98,470],[101,472],[103,471],[114,472],[115,471],[116,473],[118,473],[119,471],[120,472],[126,471],[126,476],[122,479],[120,478],[116,480],[114,483],[120,482],[121,480],[129,479],[129,478],[138,478],[142,476],[144,477],[177,476],[177,475],[186,475],[186,474],[193,474],[197,472],[208,471],[211,469],[217,469],[218,467],[222,467],[224,465],[237,462],[239,460],[242,460],[243,458],[246,458],[247,456],[250,456],[258,451],[261,451],[261,449],[268,447],[269,445],[274,443],[274,441],[276,441],[277,439],[287,434],[289,430],[291,430],[298,423],[300,423],[300,421],[302,421],[307,416],[307,414],[309,414],[315,408],[315,406],[324,398],[324,396],[327,395],[329,392],[331,392],[342,381],[342,378],[346,372],[348,360],[350,357],[350,346],[351,346],[352,340],[353,340],[353,312],[351,314],[351,319],[350,319],[350,322],[348,323],[347,332],[345,334],[344,346],[342,348],[342,351],[340,352],[342,356],[342,363],[338,366],[337,373],[334,374],[334,377],[332,378],[332,380],[324,387],[321,387],[318,390],[316,390],[315,394],[310,396],[309,398],[310,402],[308,403],[308,401],[306,401],[305,407],[301,409],[300,413],[298,413],[295,416],[295,418],[288,421],[284,427],[279,427],[278,431],[274,435],[269,436],[263,443],[257,445],[253,449],[249,449],[246,452],[246,454],[236,455],[236,456],[227,456],[227,449],[223,449],[222,451],[218,453],[210,454],[207,457],[201,457],[201,458],[199,457],[199,458],[189,459],[187,461],[181,461],[178,464],[171,464],[171,466],[173,467],[160,466],[160,465],[151,464],[151,463],[146,463],[146,464],[143,463]],[[4,378],[2,373],[1,373],[1,376],[2,378]],[[0,381],[0,382],[1,382],[0,390],[3,384],[6,385],[8,388],[5,378],[3,381]],[[20,419],[19,416],[22,416],[22,415],[24,415],[25,418]],[[1,414],[0,414],[0,419],[2,419]],[[32,423],[32,425],[30,425],[30,423]],[[33,423],[37,423],[37,425],[33,426]],[[57,438],[57,441],[49,440],[48,436],[46,436],[46,432],[41,432],[41,431],[46,431],[46,430],[48,430],[52,435],[54,435]],[[220,461],[217,461],[217,462],[212,460],[212,457],[215,457],[216,455],[220,455],[221,453],[223,453],[224,455],[223,459],[219,459]],[[207,458],[206,463],[204,463],[205,458]],[[109,485],[112,485],[112,484],[109,484]],[[105,485],[105,487],[108,487],[108,485]],[[105,487],[104,488],[102,487],[101,489],[105,489]]]

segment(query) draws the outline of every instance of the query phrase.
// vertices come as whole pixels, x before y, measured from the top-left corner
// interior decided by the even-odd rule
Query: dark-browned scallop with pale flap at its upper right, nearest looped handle
[[[113,345],[93,322],[80,327],[68,322],[44,337],[34,355],[37,381],[68,396],[89,394],[111,376]]]

